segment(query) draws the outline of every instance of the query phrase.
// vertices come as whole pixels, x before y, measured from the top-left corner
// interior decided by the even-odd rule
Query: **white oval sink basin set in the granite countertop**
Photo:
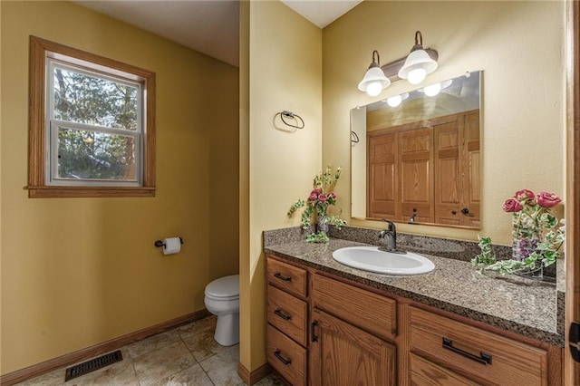
[[[412,252],[403,254],[385,252],[378,246],[349,246],[333,252],[337,262],[362,269],[388,275],[420,275],[435,269],[435,265],[425,256]]]

